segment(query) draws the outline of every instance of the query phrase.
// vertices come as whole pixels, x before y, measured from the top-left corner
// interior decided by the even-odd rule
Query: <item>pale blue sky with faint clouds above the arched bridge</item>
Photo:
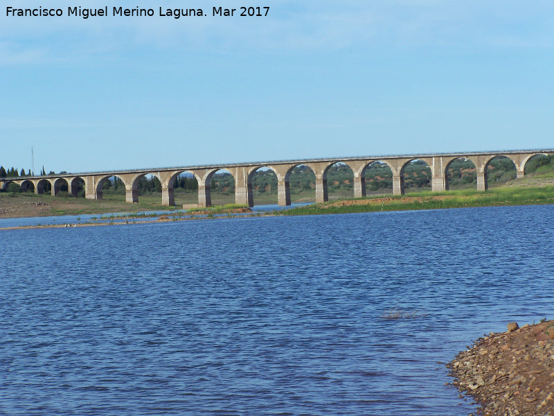
[[[212,17],[213,6],[269,6]],[[12,1],[13,8],[76,6]],[[100,171],[554,148],[552,1],[88,1],[6,17],[0,164]],[[157,17],[159,7],[208,17]]]

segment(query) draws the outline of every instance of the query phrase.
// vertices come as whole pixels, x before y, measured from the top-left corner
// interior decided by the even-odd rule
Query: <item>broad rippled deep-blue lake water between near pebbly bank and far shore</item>
[[[553,318],[554,206],[0,232],[0,414],[467,415],[442,363]],[[421,314],[382,320],[395,306]]]

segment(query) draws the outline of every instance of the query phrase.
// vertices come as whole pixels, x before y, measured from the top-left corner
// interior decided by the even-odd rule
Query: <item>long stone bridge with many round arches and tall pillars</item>
[[[65,182],[69,193],[77,195],[77,187],[82,180],[84,182],[84,196],[88,199],[102,199],[102,184],[109,177],[115,176],[125,184],[125,199],[127,202],[139,202],[139,180],[144,175],[154,175],[161,182],[161,200],[163,205],[175,205],[173,196],[173,183],[181,173],[191,173],[198,181],[198,205],[209,207],[211,205],[210,182],[217,171],[222,169],[229,171],[235,178],[235,202],[240,205],[253,206],[253,174],[262,167],[270,168],[278,179],[278,203],[290,205],[289,175],[296,166],[308,166],[316,176],[316,202],[325,202],[327,195],[327,172],[336,163],[348,165],[354,173],[354,197],[361,198],[366,195],[366,168],[374,162],[387,164],[393,172],[393,194],[404,194],[404,168],[414,160],[422,160],[431,168],[431,186],[433,191],[447,191],[447,168],[454,160],[469,159],[476,167],[477,189],[486,191],[487,170],[489,162],[497,156],[505,156],[515,164],[517,177],[524,177],[525,165],[528,160],[536,155],[553,155],[553,149],[540,150],[507,150],[495,152],[476,153],[431,153],[427,155],[389,155],[389,156],[364,156],[341,157],[329,159],[303,159],[285,160],[274,162],[256,162],[243,164],[222,164],[206,166],[184,166],[155,169],[132,169],[126,171],[106,171],[87,173],[64,173],[60,175],[28,176],[28,177],[3,177],[0,178],[2,189],[8,189],[8,184],[18,184],[22,189],[27,189],[33,184],[35,193],[44,193],[46,184],[51,185],[51,193],[57,195],[60,187]]]

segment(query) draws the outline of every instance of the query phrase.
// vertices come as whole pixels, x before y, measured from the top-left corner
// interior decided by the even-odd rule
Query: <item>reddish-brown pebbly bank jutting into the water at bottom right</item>
[[[447,364],[479,415],[554,416],[554,320],[490,333]]]

